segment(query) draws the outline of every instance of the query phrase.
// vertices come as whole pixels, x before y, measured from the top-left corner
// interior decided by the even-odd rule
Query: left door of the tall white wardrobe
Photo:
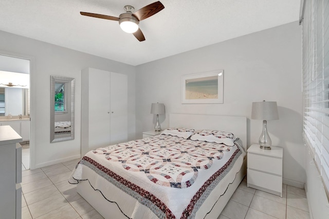
[[[89,150],[111,143],[110,84],[109,71],[89,69]]]

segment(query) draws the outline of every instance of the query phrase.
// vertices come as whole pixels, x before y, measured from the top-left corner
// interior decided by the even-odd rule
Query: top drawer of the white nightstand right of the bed
[[[248,153],[248,168],[282,175],[282,159]]]

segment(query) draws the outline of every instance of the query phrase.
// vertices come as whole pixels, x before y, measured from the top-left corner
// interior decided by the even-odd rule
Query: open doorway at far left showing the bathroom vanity
[[[31,60],[0,51],[0,125],[10,125],[23,139],[22,170],[30,169]]]

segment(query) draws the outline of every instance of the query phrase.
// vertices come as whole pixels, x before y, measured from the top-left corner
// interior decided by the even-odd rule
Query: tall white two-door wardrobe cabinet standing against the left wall
[[[127,141],[127,76],[86,68],[81,87],[81,154]]]

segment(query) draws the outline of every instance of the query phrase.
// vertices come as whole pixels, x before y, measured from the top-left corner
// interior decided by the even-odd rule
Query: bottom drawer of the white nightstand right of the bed
[[[249,158],[248,158],[249,159]],[[252,185],[282,193],[282,177],[248,169],[248,187]],[[251,184],[251,185],[250,185]]]

